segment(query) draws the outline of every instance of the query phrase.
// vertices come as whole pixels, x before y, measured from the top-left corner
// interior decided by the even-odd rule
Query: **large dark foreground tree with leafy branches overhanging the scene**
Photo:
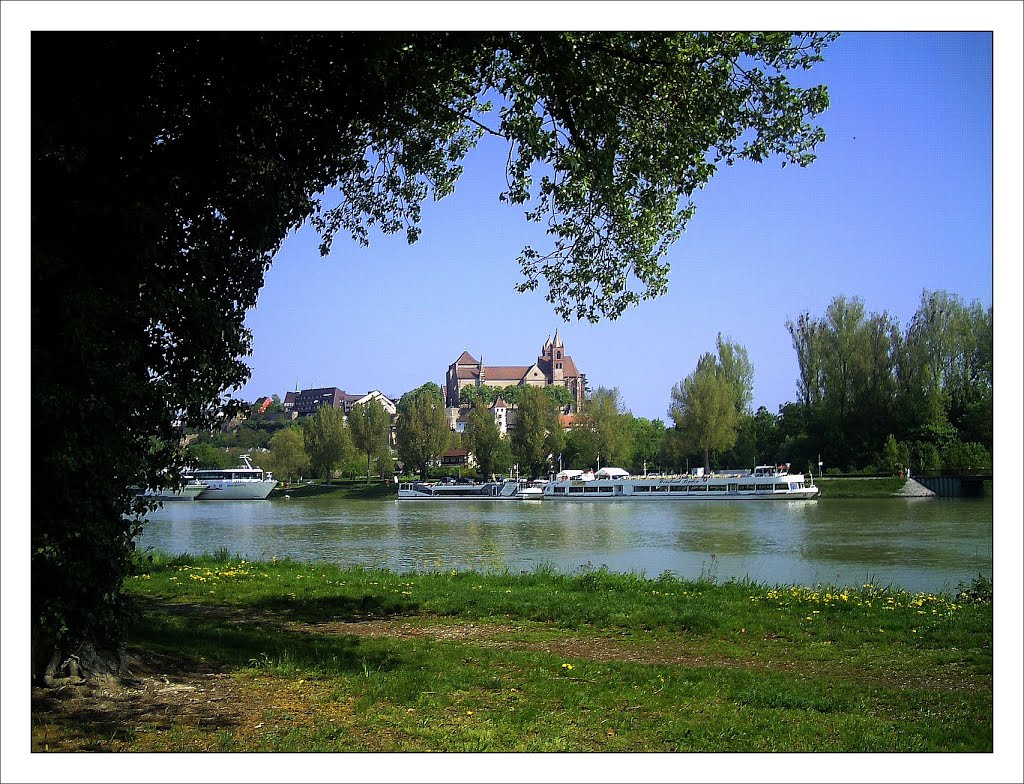
[[[120,640],[126,514],[145,511],[128,488],[178,481],[184,429],[248,379],[246,311],[290,231],[308,221],[325,253],[373,229],[413,242],[492,134],[499,198],[550,241],[522,250],[518,288],[614,318],[666,290],[718,166],[813,160],[827,93],[787,73],[831,38],[34,33],[37,677],[50,651]]]

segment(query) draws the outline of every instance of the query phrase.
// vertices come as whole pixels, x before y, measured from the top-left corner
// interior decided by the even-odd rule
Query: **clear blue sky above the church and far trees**
[[[839,295],[905,325],[924,290],[992,303],[992,38],[849,33],[798,75],[828,86],[827,140],[806,169],[723,167],[673,246],[669,294],[615,321],[563,322],[544,289],[517,294],[522,210],[498,202],[505,147],[484,139],[456,192],[424,210],[421,239],[341,238],[322,258],[289,237],[248,325],[250,383],[237,395],[337,386],[400,395],[464,350],[528,364],[559,329],[591,388],[617,387],[638,417],[667,419],[670,392],[721,332],[746,347],[754,405],[796,397],[785,321]]]

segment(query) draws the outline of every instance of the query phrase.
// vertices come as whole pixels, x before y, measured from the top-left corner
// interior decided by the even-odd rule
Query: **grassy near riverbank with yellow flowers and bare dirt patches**
[[[33,696],[39,751],[990,751],[992,606],[603,570],[157,556],[135,681]]]

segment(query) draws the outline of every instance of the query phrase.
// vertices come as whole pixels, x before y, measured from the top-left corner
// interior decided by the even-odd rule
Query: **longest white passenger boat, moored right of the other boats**
[[[686,476],[632,477],[622,469],[562,472],[544,488],[545,500],[641,498],[664,500],[811,500],[820,489],[814,478],[790,473],[790,466]]]

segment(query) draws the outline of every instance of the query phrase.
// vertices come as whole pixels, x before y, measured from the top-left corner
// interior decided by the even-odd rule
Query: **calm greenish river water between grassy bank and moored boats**
[[[140,545],[406,572],[605,566],[648,577],[953,593],[979,573],[992,576],[992,502],[171,502],[151,515]]]

